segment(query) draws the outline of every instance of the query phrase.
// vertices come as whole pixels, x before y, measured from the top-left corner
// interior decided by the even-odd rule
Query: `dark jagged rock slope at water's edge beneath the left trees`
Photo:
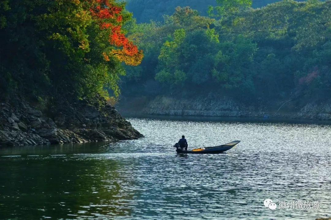
[[[119,141],[143,137],[105,100],[55,102],[46,112],[23,98],[0,101],[0,146]]]

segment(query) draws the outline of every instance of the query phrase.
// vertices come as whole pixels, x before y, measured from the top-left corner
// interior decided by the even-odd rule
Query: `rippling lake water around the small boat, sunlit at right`
[[[331,217],[331,126],[130,119],[146,137],[0,149],[0,219]],[[226,154],[176,155],[242,142]],[[319,209],[263,201],[319,201]]]

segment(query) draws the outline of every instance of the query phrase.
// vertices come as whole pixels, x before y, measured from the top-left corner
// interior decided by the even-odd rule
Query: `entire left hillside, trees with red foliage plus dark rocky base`
[[[141,137],[109,103],[122,62],[143,54],[126,39],[115,0],[0,2],[0,146]],[[108,102],[107,102],[108,101]]]

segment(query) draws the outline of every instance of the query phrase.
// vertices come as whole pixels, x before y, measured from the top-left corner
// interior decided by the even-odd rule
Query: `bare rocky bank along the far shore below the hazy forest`
[[[190,98],[158,96],[150,99],[122,98],[118,110],[126,114],[254,117],[278,119],[331,120],[331,102],[298,103],[287,100],[270,104],[244,104],[224,95],[208,94]],[[284,104],[284,106],[282,106]],[[282,108],[280,108],[282,106]],[[279,111],[277,111],[280,108]]]

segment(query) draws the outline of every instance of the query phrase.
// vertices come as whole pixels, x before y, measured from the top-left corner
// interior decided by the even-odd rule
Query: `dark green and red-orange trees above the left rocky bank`
[[[131,20],[115,0],[0,2],[0,94],[31,100],[93,99],[119,94],[122,63],[139,65],[143,51],[126,38]]]

